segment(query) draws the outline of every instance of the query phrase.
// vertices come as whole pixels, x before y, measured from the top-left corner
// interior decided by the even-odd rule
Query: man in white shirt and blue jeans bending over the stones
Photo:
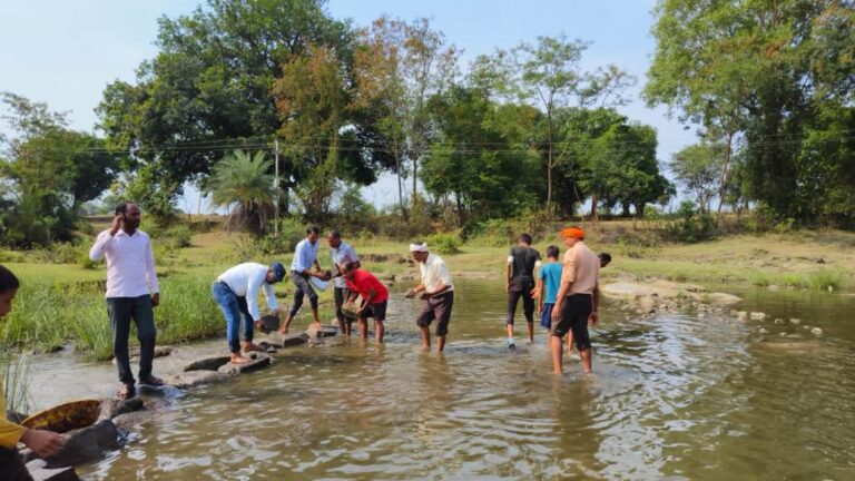
[[[285,278],[285,266],[273,263],[269,266],[257,263],[238,264],[217,277],[210,286],[214,300],[226,316],[226,336],[232,352],[232,363],[246,364],[248,357],[240,355],[238,331],[240,317],[244,317],[244,352],[264,351],[253,343],[253,327],[262,326],[262,314],[258,312],[258,291],[264,291],[267,307],[273,315],[278,316],[278,304],[273,294],[273,284]]]

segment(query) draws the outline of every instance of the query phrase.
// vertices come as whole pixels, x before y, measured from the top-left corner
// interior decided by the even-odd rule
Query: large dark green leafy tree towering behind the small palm
[[[273,87],[283,65],[309,46],[342,57],[351,49],[350,26],[325,3],[208,0],[189,16],[161,18],[158,55],[140,65],[135,84],[110,84],[98,108],[110,145],[148,170],[132,188],[156,178],[174,200],[226,151],[268,147],[281,128]],[[299,181],[291,166],[283,163],[286,188]]]

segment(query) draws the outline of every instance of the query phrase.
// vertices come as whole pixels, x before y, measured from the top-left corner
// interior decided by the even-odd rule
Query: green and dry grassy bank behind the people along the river
[[[617,277],[666,278],[710,284],[777,285],[783,288],[847,291],[855,286],[855,234],[844,232],[766,234],[734,236],[700,244],[627,242],[616,229],[627,224],[602,223],[589,227],[588,244],[597,252],[608,251],[613,263],[603,271],[606,282]],[[617,238],[617,240],[615,240]],[[612,239],[612,240],[608,240]],[[382,278],[395,276],[403,287],[415,283],[417,269],[406,262],[406,243],[379,238],[352,238],[365,259],[364,266]],[[154,238],[155,244],[158,238]],[[322,240],[323,242],[323,240]],[[444,254],[454,276],[501,279],[510,244],[495,246],[483,239],[459,246]],[[499,243],[500,244],[500,243]],[[541,239],[563,247],[560,239]],[[223,316],[212,298],[210,283],[229,266],[246,259],[286,265],[291,255],[247,253],[247,242],[238,234],[220,230],[195,234],[190,246],[156,248],[161,283],[161,306],[156,311],[159,343],[179,343],[223,335]],[[328,266],[326,243],[321,263]],[[98,359],[111,355],[111,333],[104,303],[104,266],[85,268],[78,264],[45,264],[18,254],[6,263],[22,281],[14,311],[0,323],[0,344],[35,345],[50,350],[72,342],[80,351]],[[293,294],[289,282],[275,286],[283,307]],[[259,305],[265,306],[263,300]],[[309,322],[307,308],[295,321],[296,328]],[[333,317],[332,289],[321,295],[321,317]]]

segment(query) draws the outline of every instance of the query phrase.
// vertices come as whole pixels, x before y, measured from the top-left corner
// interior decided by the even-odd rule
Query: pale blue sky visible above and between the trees
[[[197,4],[199,0],[0,0],[0,90],[70,111],[73,128],[91,131],[97,122],[92,109],[105,86],[115,79],[132,81],[139,63],[156,55],[157,19],[189,13]],[[464,50],[463,63],[495,48],[564,32],[592,42],[582,59],[584,69],[616,63],[638,77],[640,88],[653,52],[653,0],[332,0],[328,10],[357,26],[382,14],[405,20],[426,17]],[[662,161],[695,139],[668,119],[664,108],[649,109],[637,96],[620,110],[657,128]],[[386,204],[393,184],[385,177],[364,195]],[[195,206],[195,194],[188,197],[178,207]]]

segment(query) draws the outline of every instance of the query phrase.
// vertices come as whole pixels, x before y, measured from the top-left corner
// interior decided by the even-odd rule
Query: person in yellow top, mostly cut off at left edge
[[[12,310],[12,300],[20,283],[11,271],[0,265],[0,320]],[[8,481],[32,480],[16,449],[18,442],[31,449],[39,458],[50,458],[65,442],[62,434],[46,430],[31,430],[6,418],[6,396],[0,382],[0,479]]]

